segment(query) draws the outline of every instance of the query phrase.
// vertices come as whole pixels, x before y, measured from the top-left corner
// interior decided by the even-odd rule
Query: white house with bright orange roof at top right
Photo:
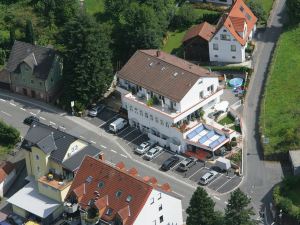
[[[236,0],[229,13],[223,14],[209,41],[209,58],[214,62],[240,63],[256,29],[256,16],[242,1]]]

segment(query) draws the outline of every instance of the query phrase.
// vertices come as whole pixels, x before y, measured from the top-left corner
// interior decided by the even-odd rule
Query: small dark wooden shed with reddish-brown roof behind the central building
[[[209,61],[208,43],[216,28],[207,22],[191,27],[182,40],[184,58],[191,61]]]

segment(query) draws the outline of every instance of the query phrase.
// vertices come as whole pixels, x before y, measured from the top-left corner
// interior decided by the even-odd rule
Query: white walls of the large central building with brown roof
[[[151,140],[161,146],[170,147],[175,152],[184,152],[187,147],[183,132],[175,125],[196,115],[200,108],[212,107],[220,101],[223,94],[223,89],[219,88],[218,77],[199,78],[180,102],[150,93],[143,87],[138,87],[136,94],[128,91],[135,86],[119,79],[117,88],[121,93],[122,107],[128,111],[130,125],[148,133]],[[158,105],[148,106],[147,99],[151,95],[157,95],[164,102],[160,100]]]

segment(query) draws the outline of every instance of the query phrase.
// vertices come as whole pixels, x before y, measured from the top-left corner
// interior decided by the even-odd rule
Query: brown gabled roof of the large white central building
[[[218,77],[203,67],[154,49],[137,50],[117,75],[176,102],[198,79]]]

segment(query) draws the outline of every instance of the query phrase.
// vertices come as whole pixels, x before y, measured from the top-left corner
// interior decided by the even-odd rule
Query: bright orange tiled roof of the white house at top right
[[[216,27],[217,30],[222,28],[222,26],[226,27],[241,45],[245,45],[256,22],[257,17],[252,13],[243,0],[236,0],[230,8],[229,13],[221,16]],[[247,24],[247,33],[243,38],[240,36],[239,32],[244,31],[245,23]]]

